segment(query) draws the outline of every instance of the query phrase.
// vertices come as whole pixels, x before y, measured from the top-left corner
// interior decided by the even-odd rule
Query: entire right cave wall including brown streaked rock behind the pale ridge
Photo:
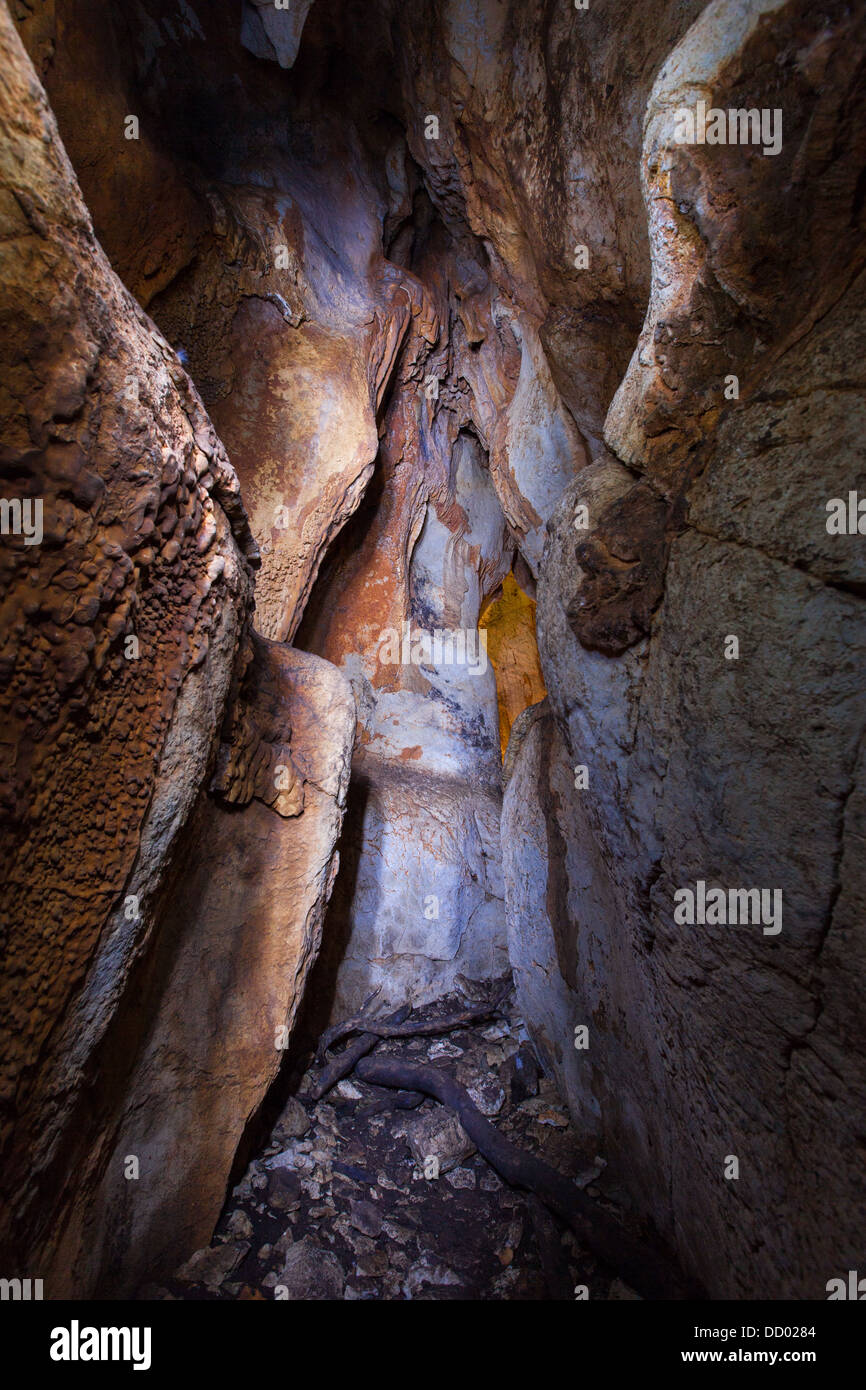
[[[509,941],[575,1115],[689,1270],[822,1297],[863,1209],[840,969],[860,951],[862,560],[826,525],[862,478],[862,19],[645,19],[478,0],[400,28],[411,154],[485,249],[461,371],[539,580],[550,713],[506,756]],[[677,143],[699,100],[780,111],[781,147]],[[491,352],[503,321],[517,368]],[[559,478],[546,389],[578,431]],[[781,933],[674,923],[698,880],[780,890]]]

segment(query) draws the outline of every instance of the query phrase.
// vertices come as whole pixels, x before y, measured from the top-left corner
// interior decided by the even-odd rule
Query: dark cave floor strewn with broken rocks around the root
[[[464,1006],[436,1001],[431,1009]],[[417,1017],[430,1016],[424,1009]],[[385,1040],[470,1087],[493,1125],[624,1219],[596,1156],[539,1070],[513,995],[500,1016],[446,1037]],[[303,1076],[299,1095],[316,1073]],[[414,1155],[413,1155],[414,1141]],[[573,1300],[637,1297],[531,1195],[507,1187],[449,1112],[350,1077],[318,1104],[291,1098],[235,1187],[214,1240],[147,1298]],[[424,1176],[435,1154],[439,1176]],[[421,1166],[420,1166],[421,1165]],[[428,1159],[430,1166],[430,1159]],[[601,1179],[601,1187],[599,1187]]]

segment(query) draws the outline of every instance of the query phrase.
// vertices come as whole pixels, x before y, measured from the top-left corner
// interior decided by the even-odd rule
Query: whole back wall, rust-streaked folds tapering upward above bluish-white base
[[[391,663],[381,652],[405,624],[477,648],[481,609],[517,556],[532,585],[548,517],[587,459],[537,306],[518,302],[480,238],[459,196],[460,165],[438,163],[446,150],[456,163],[459,152],[448,103],[441,92],[428,103],[420,74],[442,35],[427,17],[410,31],[400,7],[378,13],[389,24],[374,33],[399,82],[374,81],[367,100],[393,108],[406,131],[389,156],[405,196],[384,221],[384,243],[413,317],[379,417],[381,471],[325,560],[296,638],[342,664],[359,699],[343,870],[317,977],[325,1016],[356,1009],[373,988],[382,1006],[421,1002],[459,974],[489,977],[506,965],[487,651],[482,669],[466,660],[448,669],[435,653]],[[314,7],[307,36],[335,15],[334,6]],[[356,54],[368,46],[368,24],[367,7],[339,7],[341,42]],[[439,71],[439,57],[431,64]],[[361,92],[371,81],[363,71]],[[443,78],[459,72],[457,56]],[[353,85],[345,93],[352,111],[354,93]],[[439,124],[427,139],[430,115]],[[514,671],[524,664],[541,684],[532,641],[514,655]]]

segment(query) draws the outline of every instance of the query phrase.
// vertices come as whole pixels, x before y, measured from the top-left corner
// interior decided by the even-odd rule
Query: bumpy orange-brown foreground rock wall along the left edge
[[[106,1119],[82,1123],[85,1094],[215,755],[256,548],[192,382],[93,235],[6,6],[0,65],[0,468],[7,500],[43,509],[39,543],[0,538],[3,1258],[24,1251],[50,1297]]]

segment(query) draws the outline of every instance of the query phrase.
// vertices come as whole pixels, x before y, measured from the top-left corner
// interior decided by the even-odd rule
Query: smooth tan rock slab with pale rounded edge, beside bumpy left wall
[[[281,713],[288,742],[291,723],[303,815],[286,817],[259,792],[243,809],[200,795],[158,940],[115,1024],[125,1063],[117,1118],[79,1176],[88,1200],[57,1250],[58,1295],[131,1294],[207,1244],[318,952],[339,865],[352,689],[328,662],[256,638],[240,699],[257,742]],[[139,1161],[135,1183],[128,1155]]]

